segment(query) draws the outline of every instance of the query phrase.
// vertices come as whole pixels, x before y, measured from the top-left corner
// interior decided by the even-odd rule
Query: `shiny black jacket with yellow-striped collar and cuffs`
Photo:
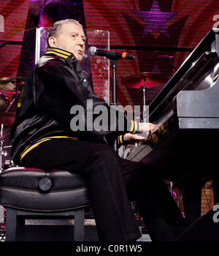
[[[116,138],[126,132],[136,132],[137,123],[116,118],[109,119],[103,130],[87,129],[86,118],[88,105],[97,105],[110,118],[110,108],[94,92],[80,64],[72,53],[58,48],[47,49],[47,53],[28,75],[23,93],[18,103],[17,115],[11,129],[12,159],[20,165],[20,154],[38,140],[50,136],[70,136],[80,140],[99,141],[103,135]],[[78,113],[70,113],[73,106],[80,105],[85,109],[85,131],[73,131],[70,127],[72,118]],[[98,113],[93,114],[95,120]],[[89,119],[91,120],[91,118]],[[119,131],[121,122],[125,129]]]

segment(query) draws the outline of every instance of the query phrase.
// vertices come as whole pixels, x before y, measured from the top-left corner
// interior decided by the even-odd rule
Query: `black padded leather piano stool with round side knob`
[[[84,241],[85,207],[90,201],[82,176],[11,167],[0,175],[0,204],[7,211],[6,241],[26,241],[26,219],[74,219],[72,241]]]

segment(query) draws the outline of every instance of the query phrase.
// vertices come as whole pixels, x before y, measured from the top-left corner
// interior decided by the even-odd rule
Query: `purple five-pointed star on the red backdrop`
[[[169,37],[169,33],[166,28],[166,22],[171,20],[178,12],[161,12],[158,2],[153,1],[153,5],[150,11],[133,11],[139,18],[145,20],[146,25],[144,28],[143,36],[153,33],[153,31],[159,31],[161,34],[165,34]]]

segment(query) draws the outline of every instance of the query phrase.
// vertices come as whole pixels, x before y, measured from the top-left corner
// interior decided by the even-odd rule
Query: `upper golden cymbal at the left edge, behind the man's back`
[[[18,84],[23,85],[26,78],[0,78],[0,90],[5,92],[16,91]]]

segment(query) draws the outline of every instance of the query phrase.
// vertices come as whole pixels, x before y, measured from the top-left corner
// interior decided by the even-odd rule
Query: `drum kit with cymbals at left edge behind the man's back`
[[[25,78],[0,78],[0,173],[4,168],[14,166],[9,156],[12,146],[9,132],[24,83]]]

